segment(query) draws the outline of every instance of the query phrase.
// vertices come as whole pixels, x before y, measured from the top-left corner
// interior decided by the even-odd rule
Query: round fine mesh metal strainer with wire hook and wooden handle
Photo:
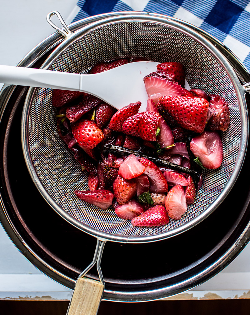
[[[53,24],[50,20],[53,14],[60,17],[56,12],[50,13],[50,24]],[[145,57],[159,63],[176,61],[185,66],[186,79],[192,89],[222,95],[230,104],[230,127],[222,134],[222,166],[204,171],[204,183],[196,201],[188,206],[181,220],[170,220],[165,226],[142,228],[120,219],[112,209],[103,211],[75,197],[75,190],[88,190],[87,175],[80,171],[72,153],[57,134],[56,112],[51,105],[52,90],[29,90],[22,117],[23,150],[28,169],[52,208],[68,222],[97,238],[94,260],[79,276],[73,296],[79,293],[78,285],[82,285],[87,290],[93,289],[93,297],[96,285],[100,299],[104,285],[100,260],[105,241],[146,243],[173,237],[206,218],[229,193],[247,147],[248,117],[244,95],[248,84],[241,85],[228,60],[205,37],[176,19],[159,14],[122,12],[84,26],[75,33],[71,33],[63,21],[62,24],[63,30],[54,24],[53,27],[64,35],[65,40],[48,57],[43,69],[87,73],[97,62],[128,56]],[[102,285],[82,281],[96,261]],[[69,313],[80,314],[74,306],[73,298]]]

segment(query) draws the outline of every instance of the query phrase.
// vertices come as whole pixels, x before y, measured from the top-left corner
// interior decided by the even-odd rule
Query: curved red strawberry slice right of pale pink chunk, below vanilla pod
[[[140,163],[142,163],[146,168],[144,174],[148,176],[150,181],[150,192],[162,193],[168,192],[168,183],[164,175],[153,162],[146,159],[145,157],[140,158]]]

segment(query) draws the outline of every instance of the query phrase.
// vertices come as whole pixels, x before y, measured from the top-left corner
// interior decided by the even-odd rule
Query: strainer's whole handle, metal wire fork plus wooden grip
[[[77,278],[66,315],[96,315],[104,291],[104,279],[100,268],[104,245],[105,241],[97,240],[93,261]],[[95,263],[100,282],[83,278]]]

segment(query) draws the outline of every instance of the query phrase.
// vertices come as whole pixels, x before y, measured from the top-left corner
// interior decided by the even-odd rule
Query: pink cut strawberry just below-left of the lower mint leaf
[[[144,207],[141,203],[135,201],[134,199],[118,205],[115,209],[116,215],[124,220],[132,220],[141,213],[143,213]]]

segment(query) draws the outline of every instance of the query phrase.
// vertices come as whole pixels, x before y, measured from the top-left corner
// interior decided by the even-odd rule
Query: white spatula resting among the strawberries
[[[158,64],[159,62],[137,61],[96,74],[0,66],[0,82],[86,92],[117,109],[140,101],[142,111],[146,109],[148,99],[143,78],[156,71]]]

